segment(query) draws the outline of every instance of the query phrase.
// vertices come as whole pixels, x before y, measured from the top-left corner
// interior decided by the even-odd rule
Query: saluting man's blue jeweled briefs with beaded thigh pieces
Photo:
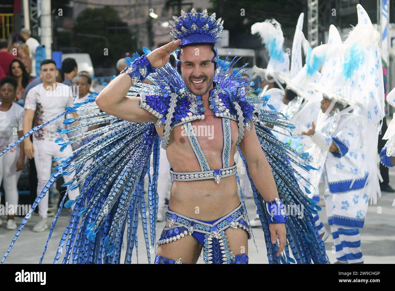
[[[166,221],[169,226],[165,227],[157,245],[171,243],[180,240],[184,236],[192,235],[203,246],[203,260],[206,264],[247,264],[248,256],[245,254],[234,255],[228,247],[225,230],[229,227],[243,228],[251,238],[250,226],[246,218],[244,207],[240,204],[227,215],[213,221],[201,221],[186,217],[167,207]],[[164,257],[155,259],[155,262],[170,260]],[[173,260],[171,260],[173,261]]]

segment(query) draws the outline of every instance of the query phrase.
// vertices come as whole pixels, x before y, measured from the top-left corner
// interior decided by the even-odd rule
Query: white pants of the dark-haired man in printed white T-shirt
[[[60,152],[60,146],[55,143],[55,141],[46,141],[39,140],[33,138],[33,146],[34,146],[34,162],[36,164],[37,169],[37,196],[43,190],[45,184],[48,182],[51,177],[51,167],[53,158],[59,158],[67,156],[72,152],[71,146],[68,145],[63,152]],[[75,171],[70,175],[64,175],[64,182],[70,181],[74,177]],[[76,188],[70,192],[68,192],[68,196],[70,200],[74,200],[75,197],[79,194],[79,188]],[[48,211],[48,193],[41,199],[38,204],[39,210],[38,214],[40,217],[47,218]]]

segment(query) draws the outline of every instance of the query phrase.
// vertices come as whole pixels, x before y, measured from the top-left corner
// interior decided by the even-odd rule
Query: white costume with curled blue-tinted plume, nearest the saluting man
[[[307,43],[302,32],[303,17],[304,14],[301,13],[295,29],[290,68],[288,53],[284,52],[283,48],[284,37],[280,24],[274,19],[271,19],[262,23],[255,23],[251,27],[253,34],[258,33],[261,36],[262,43],[268,49],[271,57],[267,68],[254,68],[256,74],[265,77],[268,81],[276,82],[281,88],[286,84],[288,89],[292,89],[298,95],[288,105],[285,105],[283,103],[284,88],[272,88],[265,92],[265,97],[270,95],[270,99],[265,100],[267,103],[270,103],[268,105],[269,109],[280,111],[294,125],[292,131],[293,136],[291,136],[289,129],[283,129],[277,126],[273,127],[273,134],[283,143],[288,144],[298,152],[307,151],[306,149],[310,147],[310,139],[302,136],[300,133],[306,131],[311,126],[312,120],[316,120],[319,111],[317,100],[314,100],[313,92],[311,90],[309,91],[309,84],[316,82],[320,77],[320,73],[317,70],[308,70],[306,65],[302,68],[301,48],[302,44]],[[308,49],[311,51],[309,46]],[[305,48],[305,51],[307,51],[307,48]],[[269,80],[269,76],[272,79]],[[262,95],[260,94],[259,96]],[[263,106],[265,105],[263,103]],[[308,170],[310,167],[306,167],[308,163],[309,159],[305,157],[302,167],[295,165],[295,170],[301,174],[300,181],[305,180],[305,183],[301,183],[304,191],[307,190],[304,184],[307,185],[309,180]]]

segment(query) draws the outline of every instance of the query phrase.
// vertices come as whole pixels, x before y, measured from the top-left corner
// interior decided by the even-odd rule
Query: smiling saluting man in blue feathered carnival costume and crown
[[[80,195],[65,204],[74,208],[54,262],[58,262],[66,244],[63,263],[70,259],[74,263],[119,263],[123,247],[126,249],[124,262],[130,263],[132,250],[135,245],[137,248],[139,212],[150,262],[150,244],[154,246],[156,241],[156,190],[162,145],[171,164],[173,185],[166,226],[156,243],[155,263],[196,263],[202,249],[205,263],[248,263],[247,246],[252,232],[243,194],[242,203],[237,195],[239,179],[233,160],[237,149],[247,166],[269,263],[328,263],[324,243],[312,220],[312,213],[317,212],[314,202],[299,188],[291,165],[306,155],[278,141],[263,124],[293,126],[278,112],[251,105],[256,103],[255,97],[248,97],[251,92],[245,89],[252,82],[239,77],[245,65],[231,73],[233,59],[226,69],[218,68],[215,44],[222,22],[215,19],[215,13],[210,16],[207,10],[198,13],[192,9],[190,13],[181,11],[181,16],[173,16],[173,19],[170,26],[174,41],[135,59],[97,98],[96,94],[92,95],[88,101],[76,103],[64,112],[97,106],[104,111],[66,119],[66,124],[84,119],[91,121],[62,132],[113,123],[67,140],[57,140],[62,147],[74,141],[86,141],[72,155],[59,160],[57,171],[32,206],[34,211],[37,202],[60,175],[77,169],[77,174],[66,184],[69,189],[84,184]],[[172,52],[177,59],[177,69],[169,63]],[[153,84],[142,83],[145,79]],[[52,120],[42,126],[49,122]],[[204,134],[198,138],[197,131],[207,126],[213,128],[214,138],[208,139]],[[38,128],[41,126],[6,150]],[[153,172],[150,173],[152,151]],[[91,158],[94,162],[83,167]],[[150,241],[143,194],[147,174]],[[295,205],[300,206],[302,212],[287,215],[287,206]],[[23,220],[4,259],[28,217]]]

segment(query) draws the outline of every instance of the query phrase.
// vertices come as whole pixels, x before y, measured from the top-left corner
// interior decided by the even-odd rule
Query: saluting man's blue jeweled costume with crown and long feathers
[[[206,10],[198,13],[192,9],[190,13],[181,11],[181,16],[174,16],[173,19],[174,21],[170,22],[171,33],[176,39],[181,39],[181,46],[194,43],[214,44],[214,58],[212,61],[217,67],[218,54],[215,42],[222,30],[222,23],[220,19],[215,19],[215,13],[208,15]],[[150,247],[156,244],[159,147],[166,148],[171,131],[175,127],[184,127],[185,131],[188,132],[188,140],[201,169],[197,172],[175,172],[171,169],[170,175],[172,179],[184,181],[183,183],[203,179],[214,179],[217,183],[225,183],[224,181],[221,182],[223,177],[237,175],[235,165],[229,164],[230,146],[232,145],[232,134],[229,124],[230,120],[234,120],[238,124],[236,145],[243,139],[244,131],[250,128],[250,123],[254,122],[261,148],[271,165],[279,197],[282,200],[282,202],[281,200],[273,202],[263,201],[261,194],[248,174],[253,189],[254,201],[256,202],[265,233],[269,262],[328,263],[324,243],[316,232],[312,221],[311,213],[316,212],[314,203],[299,188],[295,178],[295,171],[291,166],[291,162],[299,163],[298,159],[303,159],[303,154],[297,153],[278,141],[271,134],[270,130],[262,124],[270,122],[276,126],[292,126],[278,112],[259,110],[251,105],[254,98],[246,97],[248,91],[245,91],[251,80],[238,77],[238,73],[245,66],[230,73],[230,69],[235,63],[235,60],[233,60],[227,69],[221,67],[219,72],[215,74],[214,88],[209,92],[210,109],[213,110],[215,116],[222,119],[224,135],[221,156],[222,168],[211,168],[199,146],[198,138],[192,126],[194,120],[205,117],[205,108],[202,105],[201,96],[196,96],[188,91],[183,82],[180,74],[180,51],[178,49],[175,52],[177,69],[173,68],[170,63],[167,63],[164,67],[155,70],[152,68],[146,55],[143,55],[135,59],[123,71],[123,73],[127,73],[132,77],[133,86],[130,88],[128,95],[139,96],[141,98],[139,106],[158,118],[156,122],[158,126],[164,126],[162,142],[152,122],[128,122],[111,116],[106,112],[77,118],[76,120],[81,121],[84,118],[96,118],[96,122],[90,121],[87,124],[63,129],[62,132],[69,133],[93,124],[114,122],[83,133],[83,136],[79,135],[67,140],[57,140],[62,147],[81,139],[87,139],[87,142],[60,162],[60,165],[56,168],[57,171],[33,204],[32,210],[23,219],[2,262],[11,251],[13,244],[30,217],[29,215],[31,215],[38,202],[46,194],[48,188],[55,183],[58,177],[70,174],[73,169],[77,169],[77,173],[67,183],[69,189],[78,187],[81,181],[84,181],[84,185],[80,195],[75,200],[68,201],[64,205],[65,207],[74,205],[74,208],[70,224],[64,231],[59,243],[54,262],[59,261],[62,249],[66,246],[66,250],[63,251],[63,263],[68,263],[70,260],[73,263],[120,263],[122,249],[126,250],[124,262],[130,263],[132,261],[132,251],[135,246],[137,248],[138,213],[140,213],[142,219],[147,257],[150,262]],[[141,83],[145,78],[153,84]],[[96,95],[92,95],[88,101],[76,103],[73,107],[66,108],[67,110],[54,120],[68,112],[79,112],[95,108],[95,97]],[[34,131],[52,121],[32,129],[6,150],[19,144]],[[65,122],[73,123],[75,119],[70,118],[65,120]],[[149,165],[152,151],[154,170],[151,175]],[[94,161],[81,170],[85,162],[90,158],[94,158]],[[248,165],[246,166],[248,169]],[[146,201],[143,194],[144,181],[147,174],[149,184],[147,191],[149,222],[147,222]],[[85,179],[78,179],[79,177]],[[302,205],[303,215],[287,216],[284,205]],[[53,221],[48,240],[51,238],[62,207],[63,202]],[[270,211],[274,209],[275,213],[269,212],[269,209]],[[82,222],[79,227],[81,218]],[[248,262],[248,257],[245,254],[234,256],[229,251],[226,235],[224,234],[224,230],[228,227],[241,227],[250,234],[243,196],[239,207],[216,221],[199,221],[191,217],[185,217],[180,213],[175,213],[171,209],[167,210],[166,220],[171,226],[164,228],[157,244],[171,243],[174,240],[182,240],[185,236],[192,235],[203,245],[203,260],[205,263]],[[150,224],[150,235],[148,234],[147,223]],[[271,243],[269,223],[286,223],[287,246],[280,257],[276,257],[278,246]],[[124,245],[123,238],[126,226],[126,244]],[[290,257],[289,249],[291,249],[294,259]],[[182,259],[170,260],[156,256],[155,262],[181,263]]]

